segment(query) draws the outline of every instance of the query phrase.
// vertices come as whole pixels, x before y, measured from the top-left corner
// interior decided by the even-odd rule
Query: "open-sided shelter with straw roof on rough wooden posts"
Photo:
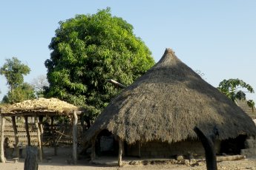
[[[36,129],[39,146],[39,159],[42,161],[42,118],[50,117],[53,126],[53,118],[56,116],[70,116],[73,119],[73,160],[76,163],[76,146],[77,146],[77,115],[79,107],[74,106],[65,101],[60,101],[57,98],[38,98],[34,100],[27,100],[21,103],[14,103],[12,105],[1,107],[1,162],[5,161],[4,157],[4,122],[6,117],[12,118],[13,132],[15,135],[16,156],[19,157],[19,135],[16,128],[16,117],[24,117],[25,129],[27,132],[27,145],[30,146],[30,133],[28,130],[27,118],[35,118]]]

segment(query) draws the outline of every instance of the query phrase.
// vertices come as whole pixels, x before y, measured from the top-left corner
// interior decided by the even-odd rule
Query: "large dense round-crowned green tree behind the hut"
[[[154,65],[132,25],[111,16],[109,8],[60,21],[49,48],[47,95],[76,106],[86,103],[93,114],[119,92],[107,79],[128,85]]]

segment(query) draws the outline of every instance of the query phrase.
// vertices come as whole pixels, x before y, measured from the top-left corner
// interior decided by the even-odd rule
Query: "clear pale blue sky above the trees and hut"
[[[13,56],[30,67],[24,80],[45,75],[48,45],[59,21],[76,14],[93,14],[111,7],[134,26],[159,61],[166,47],[188,67],[203,72],[217,86],[228,78],[240,78],[256,90],[255,0],[44,0],[0,2],[0,66]],[[0,100],[7,92],[0,75]],[[256,101],[256,95],[248,95]]]

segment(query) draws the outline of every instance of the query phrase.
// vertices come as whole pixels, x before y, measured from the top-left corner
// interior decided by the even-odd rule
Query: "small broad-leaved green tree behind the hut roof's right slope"
[[[224,95],[230,98],[236,103],[237,100],[245,101],[246,92],[254,93],[254,89],[251,85],[238,78],[230,78],[229,80],[224,79],[220,82],[217,89],[220,90]],[[247,90],[247,91],[245,91]],[[254,112],[255,102],[252,100],[247,101],[247,105],[252,108]]]

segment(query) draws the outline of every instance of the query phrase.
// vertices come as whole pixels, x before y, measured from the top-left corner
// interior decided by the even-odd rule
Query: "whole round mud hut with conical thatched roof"
[[[217,127],[217,153],[239,152],[246,137],[256,135],[252,118],[166,49],[154,67],[108,104],[85,140],[92,144],[92,159],[95,154],[119,155],[119,160],[122,155],[203,155],[195,126],[205,135]]]

